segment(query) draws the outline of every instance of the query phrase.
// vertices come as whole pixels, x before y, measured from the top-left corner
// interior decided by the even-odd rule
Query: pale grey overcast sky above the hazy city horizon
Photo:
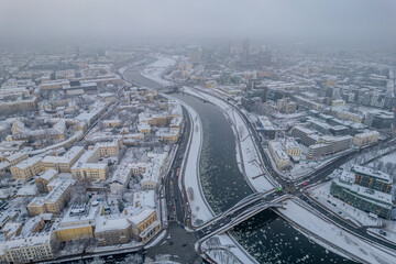
[[[0,42],[81,36],[396,42],[396,1],[0,0]]]

